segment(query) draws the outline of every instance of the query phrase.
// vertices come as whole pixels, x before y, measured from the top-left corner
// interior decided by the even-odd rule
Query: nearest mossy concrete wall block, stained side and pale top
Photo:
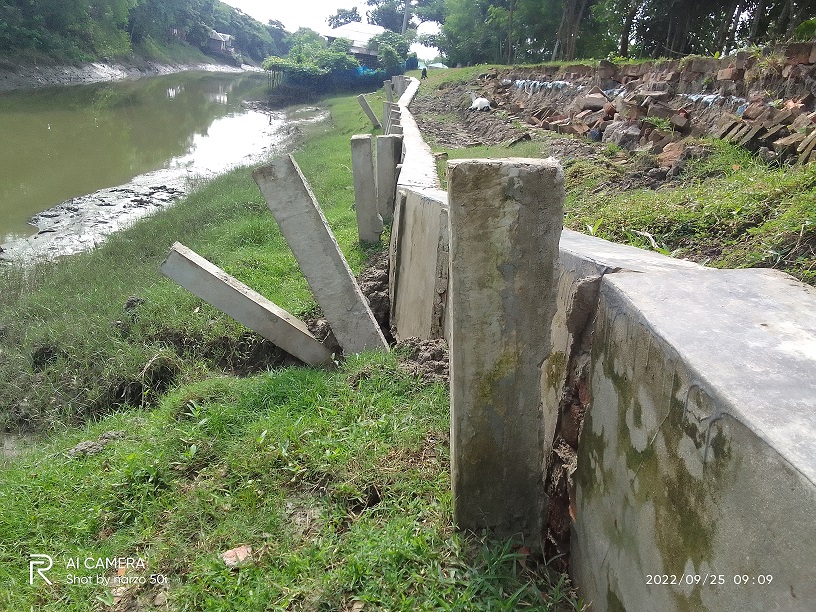
[[[594,610],[813,609],[814,312],[772,271],[604,277],[572,557]]]

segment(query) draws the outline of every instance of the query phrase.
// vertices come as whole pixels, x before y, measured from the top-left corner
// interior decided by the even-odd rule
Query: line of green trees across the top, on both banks
[[[367,6],[369,23],[408,41],[419,23],[440,23],[439,34],[419,41],[462,65],[716,55],[816,34],[816,0],[367,0]],[[332,27],[362,20],[356,8],[326,18]],[[0,0],[0,53],[11,55],[115,58],[178,38],[206,49],[212,29],[231,34],[235,48],[256,62],[285,58],[299,39],[302,47],[316,35],[289,33],[279,21],[261,24],[219,0]]]

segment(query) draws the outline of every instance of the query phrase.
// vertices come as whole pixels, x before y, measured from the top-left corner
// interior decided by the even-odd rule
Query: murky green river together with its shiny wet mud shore
[[[89,248],[201,177],[270,156],[293,121],[246,104],[266,83],[188,72],[0,94],[2,257]]]

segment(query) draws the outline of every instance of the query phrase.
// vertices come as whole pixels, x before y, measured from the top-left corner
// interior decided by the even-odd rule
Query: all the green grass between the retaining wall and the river
[[[348,142],[369,127],[353,97],[331,105],[332,124],[295,157],[359,269]],[[245,331],[160,277],[174,240],[293,312],[314,307],[247,169],[93,253],[5,270],[0,397],[64,432],[0,466],[0,608],[105,609],[114,595],[120,606],[166,597],[179,610],[573,608],[563,578],[508,543],[453,531],[444,387],[382,354],[334,372],[233,378],[203,349],[178,355],[163,343],[169,332],[204,347]],[[131,317],[122,305],[134,293],[146,301]],[[56,356],[35,371],[43,345]],[[157,355],[179,368],[178,384],[154,408],[105,416],[93,400]],[[66,455],[108,431],[124,437]],[[228,570],[219,553],[240,544],[255,561]],[[53,586],[29,586],[30,553],[55,558]],[[77,556],[145,558],[145,572],[125,575],[160,574],[168,587],[69,585],[68,574],[113,574],[66,569]]]

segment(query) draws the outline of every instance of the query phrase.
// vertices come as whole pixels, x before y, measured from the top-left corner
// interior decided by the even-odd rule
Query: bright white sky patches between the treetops
[[[365,0],[222,0],[225,4],[241,9],[250,17],[254,17],[261,23],[267,23],[270,19],[280,21],[289,32],[294,32],[298,28],[311,28],[319,33],[329,29],[326,19],[338,9],[352,9],[357,7],[357,12],[363,21],[366,20]],[[430,30],[429,30],[430,28]],[[435,31],[431,24],[424,24],[419,32],[430,33]],[[436,50],[428,49],[421,45],[413,45],[411,51],[416,52],[420,59],[431,59],[436,56]]]

